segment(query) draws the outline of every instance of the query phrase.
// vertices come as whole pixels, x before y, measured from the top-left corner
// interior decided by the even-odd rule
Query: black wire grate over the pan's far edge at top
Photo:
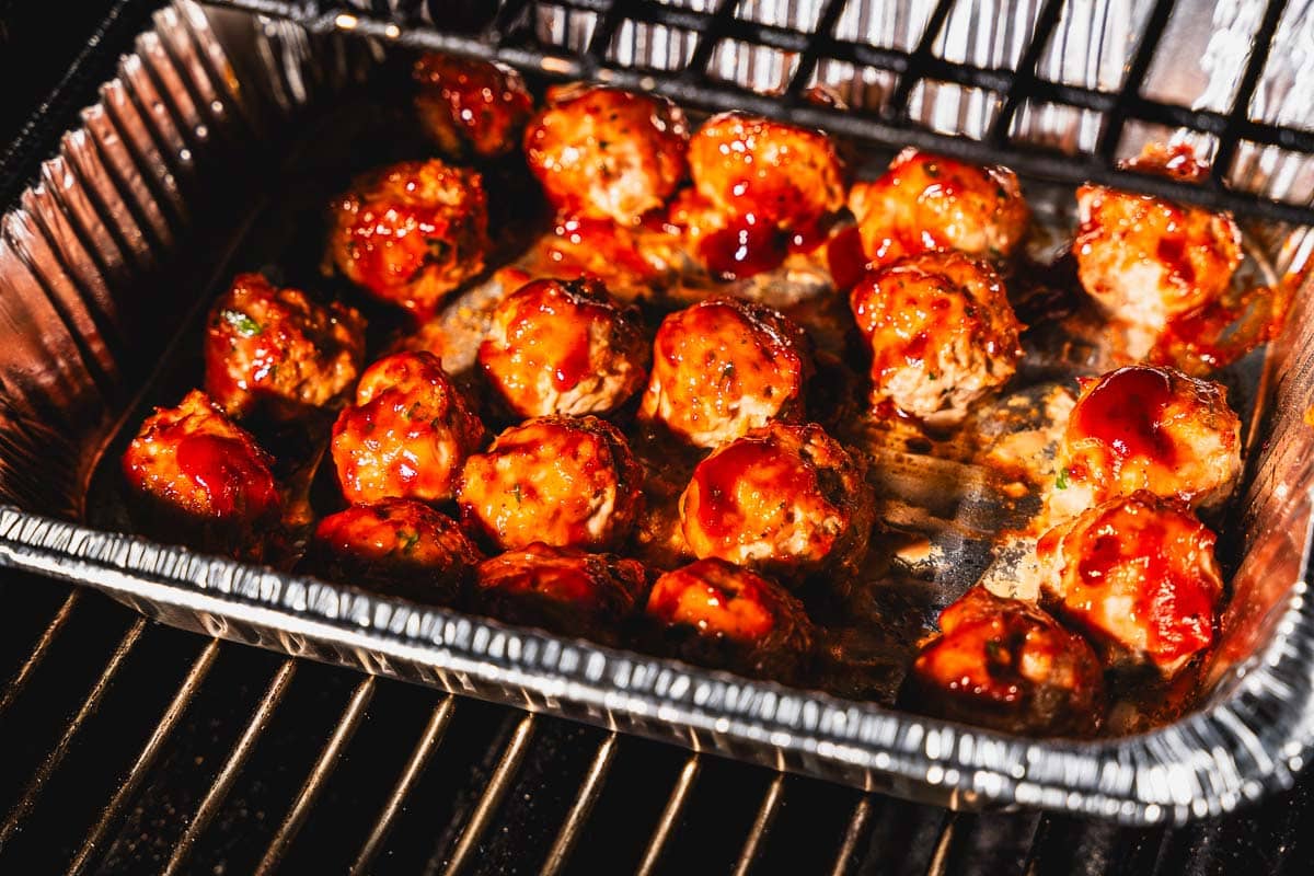
[[[363,3],[364,8],[356,8],[283,0],[219,3],[290,17],[311,30],[356,30],[405,45],[498,58],[557,79],[590,79],[650,89],[707,109],[748,109],[787,117],[886,147],[912,144],[966,160],[997,162],[1020,173],[1058,183],[1095,181],[1265,219],[1314,222],[1307,190],[1293,190],[1277,200],[1227,186],[1229,180],[1235,180],[1236,159],[1242,152],[1269,150],[1272,160],[1314,155],[1314,130],[1254,117],[1252,101],[1284,22],[1285,0],[1269,0],[1264,5],[1252,33],[1252,49],[1243,68],[1236,71],[1238,84],[1225,110],[1184,106],[1144,93],[1143,85],[1154,64],[1171,56],[1172,41],[1166,38],[1173,11],[1171,0],[1155,0],[1144,16],[1133,60],[1121,76],[1121,85],[1114,88],[1070,84],[1062,76],[1041,72],[1041,59],[1059,22],[1064,14],[1076,14],[1072,8],[1079,4],[1043,0],[1014,68],[953,62],[937,53],[955,4],[957,0],[937,0],[916,45],[897,49],[836,35],[841,32],[838,25],[850,8],[859,7],[859,0],[811,4],[817,9],[811,28],[757,21],[748,9],[754,5],[750,0],[686,0],[683,4],[669,0],[503,0],[495,11],[490,8],[482,16],[474,13],[482,22],[474,33],[451,33],[434,26],[435,20],[443,21],[451,14],[447,8],[451,4],[393,0],[392,4]],[[380,8],[384,12],[368,12]],[[545,8],[565,17],[565,30],[573,39],[540,38],[533,24]],[[802,18],[807,24],[811,16]],[[673,64],[668,70],[620,63],[625,54],[616,51],[618,35],[627,33],[633,41],[637,28],[662,38],[682,35],[694,47],[686,53],[673,51]],[[581,49],[572,51],[568,47],[572,42]],[[790,71],[779,95],[765,96],[712,74],[717,53],[745,47],[766,50]],[[681,60],[683,63],[674,63]],[[887,99],[875,108],[849,110],[809,102],[805,92],[819,66],[833,63],[892,77]],[[913,113],[915,96],[929,84],[949,84],[984,96],[993,106],[993,118],[983,135],[955,135],[918,123]],[[1089,148],[1068,144],[1059,150],[1028,142],[1017,130],[1017,122],[1029,106],[1093,114],[1100,125],[1099,137]],[[1206,144],[1206,151],[1212,147],[1212,177],[1205,184],[1190,184],[1120,168],[1120,146],[1137,126],[1185,131]]]

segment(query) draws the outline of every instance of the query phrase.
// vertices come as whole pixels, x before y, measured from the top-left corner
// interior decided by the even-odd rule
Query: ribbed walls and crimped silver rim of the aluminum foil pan
[[[394,5],[405,7],[396,12],[398,24],[380,32],[402,38],[405,28],[426,24],[435,4]],[[738,14],[809,28],[820,5],[745,1]],[[991,0],[964,0],[938,51],[983,67],[1013,64],[1038,5],[996,9]],[[1042,70],[1072,84],[1117,87],[1143,5],[1068,3]],[[1248,41],[1260,7],[1219,4],[1215,12],[1206,0],[1179,4],[1168,32],[1173,63],[1151,67],[1146,92],[1225,106],[1244,62],[1238,41]],[[1311,81],[1305,66],[1314,56],[1303,7],[1292,4],[1285,13],[1251,106],[1256,117],[1311,122],[1314,104],[1302,83]],[[539,38],[562,53],[585,43],[597,22],[595,13],[552,3],[535,4],[531,13]],[[853,0],[836,28],[845,38],[909,46],[928,16],[929,4]],[[352,16],[338,18],[340,30],[355,28]],[[608,58],[660,70],[692,51],[696,39],[627,25]],[[778,84],[791,63],[769,49],[717,53],[717,75],[761,88]],[[276,159],[305,135],[315,108],[368,79],[389,54],[386,39],[317,35],[288,21],[175,0],[122,56],[81,123],[51,143],[51,158],[0,219],[0,562],[100,588],[204,634],[958,808],[1184,821],[1292,783],[1314,742],[1309,282],[1296,290],[1284,334],[1255,360],[1259,440],[1229,527],[1239,562],[1209,667],[1210,692],[1187,717],[1139,735],[1010,737],[88,525],[97,460],[139,406],[142,389],[177,360],[188,314],[194,322],[209,301],[205,292],[229,278],[227,247],[260,215],[275,183],[288,184],[272,179],[284,167]],[[841,64],[820,64],[816,76],[866,106],[879,105],[890,87],[880,71]],[[928,84],[913,109],[929,126],[980,137],[997,106],[988,95]],[[1099,134],[1097,118],[1046,106],[1022,108],[1016,126],[1042,143],[1088,146]],[[1133,133],[1123,150],[1167,134]],[[307,172],[314,158],[311,139]],[[1307,164],[1273,148],[1243,147],[1233,183],[1307,192]],[[1303,276],[1311,246],[1305,230],[1247,232],[1279,276]]]

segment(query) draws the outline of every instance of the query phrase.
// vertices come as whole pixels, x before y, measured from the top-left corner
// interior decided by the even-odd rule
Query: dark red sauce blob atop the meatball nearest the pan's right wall
[[[1122,460],[1143,457],[1172,465],[1176,449],[1162,428],[1172,401],[1168,376],[1152,368],[1120,368],[1101,378],[1077,406],[1076,428]]]

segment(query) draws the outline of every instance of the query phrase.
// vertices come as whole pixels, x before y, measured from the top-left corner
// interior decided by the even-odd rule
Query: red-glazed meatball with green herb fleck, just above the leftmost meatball
[[[260,408],[288,419],[336,407],[365,357],[365,320],[336,302],[277,289],[258,273],[233,281],[205,330],[205,391],[229,416]]]

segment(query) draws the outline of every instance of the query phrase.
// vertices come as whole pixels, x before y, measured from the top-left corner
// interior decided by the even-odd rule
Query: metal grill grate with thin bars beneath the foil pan
[[[1298,872],[1314,851],[1307,783],[1180,830],[946,813],[201,640],[50,582],[0,595],[4,872]]]

